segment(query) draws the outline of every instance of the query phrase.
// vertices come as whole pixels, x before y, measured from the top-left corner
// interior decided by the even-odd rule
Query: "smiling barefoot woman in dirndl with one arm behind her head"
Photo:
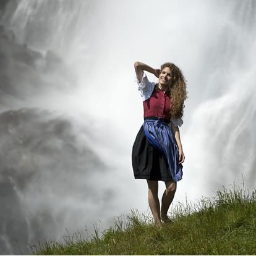
[[[147,179],[148,203],[157,226],[161,220],[170,221],[167,213],[182,179],[185,156],[179,134],[182,125],[184,101],[187,98],[186,80],[181,70],[166,62],[161,69],[153,69],[135,62],[135,82],[143,100],[144,123],[132,147],[132,167],[135,179]],[[144,71],[158,77],[158,83],[149,82]],[[158,181],[164,181],[166,190],[158,199]]]

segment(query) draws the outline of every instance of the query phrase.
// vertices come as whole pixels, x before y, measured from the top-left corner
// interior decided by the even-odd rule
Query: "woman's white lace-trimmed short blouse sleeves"
[[[143,72],[143,77],[141,82],[139,82],[137,77],[135,77],[134,80],[138,85],[138,89],[140,91],[140,96],[142,97],[142,100],[145,101],[148,98],[150,98],[156,83],[148,81],[148,77],[145,74],[145,72]],[[181,118],[171,118],[171,121],[169,122],[169,124],[174,124],[175,126],[181,127],[183,124],[183,121]]]

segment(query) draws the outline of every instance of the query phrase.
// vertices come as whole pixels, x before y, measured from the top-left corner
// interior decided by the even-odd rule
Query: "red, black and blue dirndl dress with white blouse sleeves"
[[[153,181],[180,181],[182,164],[179,164],[179,150],[168,116],[171,101],[163,91],[156,92],[156,83],[149,82],[145,72],[139,83],[143,99],[144,123],[132,147],[132,168],[135,179]],[[161,118],[163,117],[163,118]],[[181,126],[182,120],[177,121]]]

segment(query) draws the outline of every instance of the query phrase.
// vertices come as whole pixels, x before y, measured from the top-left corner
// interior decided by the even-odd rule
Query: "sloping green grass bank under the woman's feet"
[[[30,245],[38,255],[255,255],[256,191],[233,186],[197,204],[171,209],[172,223],[157,228],[150,215],[132,210],[93,236],[75,233],[61,241]]]

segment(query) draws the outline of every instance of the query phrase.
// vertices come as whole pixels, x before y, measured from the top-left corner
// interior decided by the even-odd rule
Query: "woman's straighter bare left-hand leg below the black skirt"
[[[161,226],[158,181],[148,181],[148,204],[157,226]]]

